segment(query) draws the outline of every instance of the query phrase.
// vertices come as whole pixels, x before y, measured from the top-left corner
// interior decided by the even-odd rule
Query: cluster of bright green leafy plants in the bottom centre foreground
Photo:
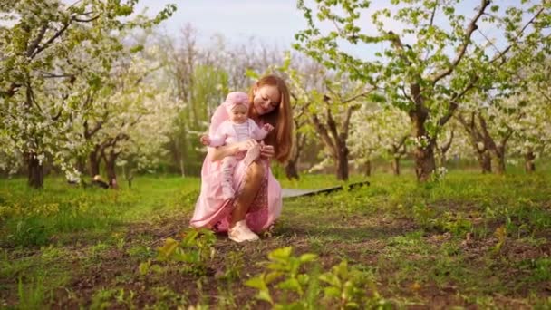
[[[294,257],[292,252],[292,247],[270,252],[266,264],[268,272],[247,280],[247,286],[258,290],[257,299],[268,302],[275,309],[313,309],[319,306],[339,309],[391,308],[391,303],[379,295],[372,275],[350,269],[345,260],[320,275],[318,265],[305,269],[311,266],[307,263],[317,260],[316,255],[305,253]],[[367,295],[367,290],[372,295]],[[282,300],[275,300],[275,295]],[[293,302],[288,303],[287,300]]]

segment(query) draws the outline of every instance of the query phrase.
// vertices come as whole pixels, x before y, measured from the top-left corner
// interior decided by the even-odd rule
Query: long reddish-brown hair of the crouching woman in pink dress
[[[260,88],[265,85],[276,86],[279,90],[280,102],[274,111],[266,113],[264,115],[258,115],[254,108],[253,94],[255,87]],[[289,96],[289,89],[282,78],[276,75],[266,75],[255,85],[253,85],[248,93],[251,104],[249,105],[249,115],[256,120],[260,120],[263,123],[269,123],[274,126],[274,130],[270,131],[265,139],[267,145],[273,145],[275,149],[275,160],[279,162],[285,162],[291,155],[291,148],[293,146],[293,111],[291,110],[291,102]]]

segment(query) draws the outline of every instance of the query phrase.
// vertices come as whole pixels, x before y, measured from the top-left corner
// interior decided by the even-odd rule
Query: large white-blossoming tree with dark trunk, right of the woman
[[[549,7],[541,3],[519,1],[504,10],[482,0],[466,21],[458,13],[459,1],[397,0],[391,1],[391,9],[371,12],[373,34],[358,25],[362,14],[370,14],[370,1],[315,2],[315,12],[303,0],[298,2],[308,29],[295,34],[295,48],[330,69],[384,90],[387,102],[409,114],[421,181],[430,179],[438,134],[465,94],[479,84],[488,86],[504,65],[519,64],[526,50],[541,46],[542,28],[549,23]],[[319,23],[314,23],[314,16]],[[336,29],[323,34],[318,24],[324,22]],[[505,46],[497,48],[487,40],[480,24],[499,29]],[[362,46],[362,56],[344,51],[343,43]]]

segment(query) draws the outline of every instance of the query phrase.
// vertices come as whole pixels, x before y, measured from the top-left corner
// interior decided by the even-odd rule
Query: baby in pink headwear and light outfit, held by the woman
[[[222,103],[227,110],[229,120],[222,122],[213,136],[201,136],[201,143],[209,147],[218,147],[225,144],[236,143],[244,140],[263,140],[268,132],[274,130],[274,126],[264,124],[262,128],[256,122],[249,119],[248,96],[245,92],[230,92],[227,94],[226,102]],[[243,160],[248,166],[260,156],[258,147],[240,152],[235,156],[227,156],[222,160],[222,195],[224,199],[233,199],[235,191],[232,180],[234,168],[239,160]]]

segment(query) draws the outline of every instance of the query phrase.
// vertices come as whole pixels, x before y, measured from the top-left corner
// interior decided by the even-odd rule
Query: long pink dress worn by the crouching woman
[[[218,125],[228,119],[226,108],[220,105],[210,121],[208,135],[215,133]],[[233,210],[233,200],[222,198],[223,172],[221,161],[211,161],[211,150],[203,161],[201,169],[201,192],[195,205],[195,212],[189,224],[194,228],[212,228],[215,231],[227,231],[229,217]],[[262,160],[266,177],[262,180],[260,189],[256,193],[247,212],[247,226],[255,232],[262,232],[279,218],[282,208],[281,186],[272,175],[268,160]],[[247,167],[241,161],[234,171],[233,186],[237,195],[241,191]],[[237,196],[236,195],[236,196]]]

